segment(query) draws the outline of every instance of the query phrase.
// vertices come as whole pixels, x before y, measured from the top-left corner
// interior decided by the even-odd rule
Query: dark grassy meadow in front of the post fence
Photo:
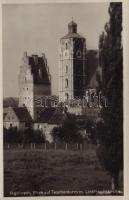
[[[84,152],[4,150],[4,196],[58,195],[56,191],[84,195],[79,191],[110,187],[111,178],[101,168],[94,148]]]

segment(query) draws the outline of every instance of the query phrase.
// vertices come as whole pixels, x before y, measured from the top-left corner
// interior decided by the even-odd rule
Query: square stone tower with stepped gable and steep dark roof
[[[37,118],[36,97],[51,95],[51,76],[47,59],[41,56],[28,56],[24,53],[18,77],[19,107],[26,107],[33,120]]]

